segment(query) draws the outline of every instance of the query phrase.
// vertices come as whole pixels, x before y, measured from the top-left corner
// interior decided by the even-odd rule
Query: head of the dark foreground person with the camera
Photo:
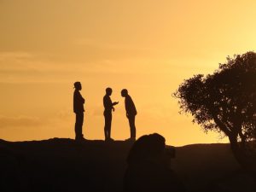
[[[144,135],[138,138],[131,147],[127,157],[127,163],[130,165],[142,162],[143,160],[151,160],[164,166],[169,166],[166,165],[168,162],[165,156],[165,148],[165,137],[162,137],[158,133]]]

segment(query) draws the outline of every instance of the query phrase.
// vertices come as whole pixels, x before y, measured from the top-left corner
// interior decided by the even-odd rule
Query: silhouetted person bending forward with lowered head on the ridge
[[[131,131],[131,141],[136,140],[136,127],[135,127],[135,116],[137,115],[137,110],[135,108],[134,102],[131,96],[128,95],[128,90],[121,90],[121,96],[125,97],[125,110],[126,117],[129,119],[130,131]]]

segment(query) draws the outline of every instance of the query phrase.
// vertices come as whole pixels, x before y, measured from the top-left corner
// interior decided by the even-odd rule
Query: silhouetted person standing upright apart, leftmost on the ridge
[[[73,112],[76,113],[76,123],[75,123],[75,134],[76,140],[83,140],[84,136],[82,133],[82,127],[84,123],[84,98],[81,96],[80,90],[82,90],[82,84],[80,82],[74,83],[73,92]]]

